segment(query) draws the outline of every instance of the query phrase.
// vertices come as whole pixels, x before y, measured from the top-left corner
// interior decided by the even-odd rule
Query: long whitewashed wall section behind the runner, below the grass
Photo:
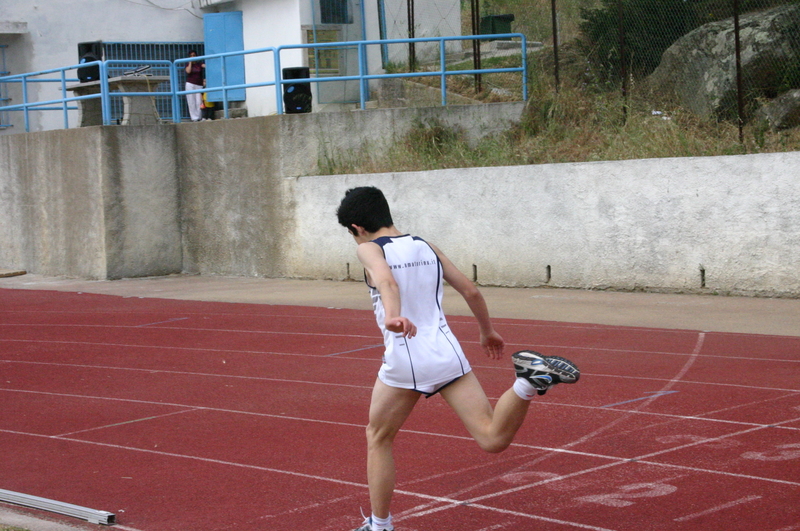
[[[373,184],[401,230],[483,284],[800,294],[798,163],[794,152],[303,177],[287,269],[343,279],[349,263],[360,278],[334,212],[347,188]]]

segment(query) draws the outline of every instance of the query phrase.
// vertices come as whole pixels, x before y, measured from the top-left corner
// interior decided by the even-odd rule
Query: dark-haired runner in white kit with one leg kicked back
[[[358,244],[385,345],[367,425],[372,514],[355,531],[393,531],[392,444],[420,396],[440,393],[478,445],[496,453],[511,444],[534,396],[557,383],[577,382],[580,371],[564,358],[517,352],[511,356],[517,378],[493,410],[442,311],[444,280],[478,320],[487,356],[500,359],[505,343],[492,326],[480,291],[438,248],[395,228],[389,204],[377,188],[348,190],[337,216]]]

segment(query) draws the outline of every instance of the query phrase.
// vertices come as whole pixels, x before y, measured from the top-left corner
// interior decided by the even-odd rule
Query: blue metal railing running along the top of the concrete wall
[[[463,69],[463,70],[447,70],[446,64],[446,44],[451,41],[465,41],[465,40],[488,40],[488,39],[520,39],[521,45],[521,65],[518,67],[505,67],[505,68],[485,68],[485,69]],[[419,72],[404,72],[394,74],[370,74],[367,68],[367,46],[386,46],[391,44],[409,44],[409,43],[423,43],[423,42],[436,42],[439,45],[439,62],[438,69],[419,71]],[[315,77],[303,79],[283,79],[281,53],[286,50],[297,49],[324,49],[324,48],[357,48],[358,50],[358,74],[351,76],[330,76],[330,77]],[[414,38],[414,39],[391,39],[391,40],[369,40],[369,41],[351,41],[351,42],[333,42],[333,43],[316,43],[316,44],[294,44],[278,47],[259,48],[255,50],[245,50],[238,52],[227,52],[221,54],[204,55],[193,58],[177,59],[173,62],[170,61],[144,61],[144,60],[108,60],[108,61],[95,61],[91,63],[83,63],[80,65],[71,65],[61,68],[53,68],[50,70],[42,70],[28,74],[17,74],[13,76],[0,77],[0,83],[20,83],[22,86],[22,103],[16,105],[3,106],[3,111],[21,111],[25,116],[25,130],[30,130],[29,114],[32,111],[62,111],[64,116],[64,128],[69,128],[68,111],[75,110],[77,107],[71,106],[71,103],[79,102],[82,100],[89,100],[99,98],[102,108],[102,121],[104,125],[112,124],[111,116],[111,99],[118,97],[128,96],[167,96],[171,98],[171,120],[174,123],[181,121],[180,98],[185,97],[187,94],[195,94],[202,92],[222,92],[223,112],[226,118],[229,117],[229,102],[228,92],[238,89],[248,89],[256,87],[275,87],[275,101],[277,106],[277,113],[283,114],[283,85],[302,83],[329,83],[335,81],[358,81],[359,82],[359,104],[361,109],[366,108],[366,102],[369,95],[369,82],[374,79],[389,79],[389,78],[414,78],[414,77],[439,77],[440,88],[442,96],[442,105],[447,105],[447,77],[454,75],[474,75],[474,74],[494,74],[505,72],[519,72],[522,75],[522,98],[523,101],[528,98],[528,63],[527,63],[527,44],[526,38],[521,33],[504,33],[494,35],[469,35],[469,36],[453,36],[453,37],[429,37],[429,38]],[[225,57],[231,56],[245,56],[252,54],[271,53],[274,62],[274,77],[272,81],[258,81],[254,83],[241,83],[229,85],[227,82],[227,72],[225,68]],[[179,86],[179,69],[185,68],[186,63],[190,61],[208,61],[209,59],[222,59],[219,61],[222,70],[222,84],[221,86],[206,87],[198,90],[185,90],[185,87]],[[108,78],[109,71],[118,71],[120,65],[126,68],[135,67],[136,65],[150,66],[161,70],[168,69],[169,71],[169,89],[162,91],[152,92],[111,92]],[[72,71],[77,71],[79,68],[98,66],[100,70],[100,92],[98,94],[90,94],[85,96],[69,96],[67,94],[67,83],[77,83],[77,78],[71,77]],[[70,77],[67,74],[70,73]],[[56,78],[44,78],[42,76],[56,75]],[[28,85],[31,83],[59,83],[60,84],[60,98],[51,98],[45,101],[29,102],[28,101]]]

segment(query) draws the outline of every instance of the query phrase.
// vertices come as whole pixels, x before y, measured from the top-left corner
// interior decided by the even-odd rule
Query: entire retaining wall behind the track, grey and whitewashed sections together
[[[84,278],[361,278],[335,211],[346,189],[374,184],[401,230],[436,243],[482,284],[800,296],[798,152],[307,176],[326,154],[384,149],[420,117],[479,136],[520,111],[390,109],[2,137],[0,267]]]

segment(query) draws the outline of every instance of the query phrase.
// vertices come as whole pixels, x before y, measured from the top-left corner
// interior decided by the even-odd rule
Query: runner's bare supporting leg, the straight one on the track
[[[372,389],[367,426],[367,482],[372,514],[389,517],[395,484],[392,445],[420,394],[410,389],[389,387],[380,380]]]

